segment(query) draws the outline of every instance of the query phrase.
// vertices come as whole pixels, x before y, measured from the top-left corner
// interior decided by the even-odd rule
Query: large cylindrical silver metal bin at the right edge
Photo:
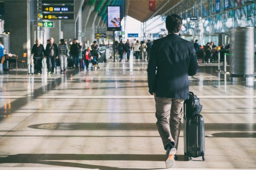
[[[254,81],[254,27],[230,29],[230,79]]]

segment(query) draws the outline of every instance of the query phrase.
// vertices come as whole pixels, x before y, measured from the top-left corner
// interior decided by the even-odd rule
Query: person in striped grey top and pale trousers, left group
[[[61,63],[61,74],[66,72],[67,68],[67,56],[68,56],[68,46],[65,43],[64,39],[60,39],[60,44],[58,46],[58,56]]]

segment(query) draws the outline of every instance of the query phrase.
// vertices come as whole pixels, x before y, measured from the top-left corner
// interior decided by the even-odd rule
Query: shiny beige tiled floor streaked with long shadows
[[[0,77],[0,169],[164,169],[146,62],[100,63],[54,76]],[[201,98],[206,160],[173,169],[255,169],[256,82],[230,82],[200,64],[190,90]]]

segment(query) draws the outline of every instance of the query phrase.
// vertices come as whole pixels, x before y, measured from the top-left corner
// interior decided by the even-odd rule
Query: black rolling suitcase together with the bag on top
[[[204,161],[204,119],[199,114],[202,110],[202,105],[193,92],[189,92],[189,94],[189,100],[184,101],[184,155],[187,161],[191,157],[197,158],[201,156]]]

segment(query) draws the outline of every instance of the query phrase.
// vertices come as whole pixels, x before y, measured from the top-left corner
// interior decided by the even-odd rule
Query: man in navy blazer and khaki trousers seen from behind
[[[189,99],[188,75],[198,72],[193,43],[179,37],[182,19],[172,14],[165,21],[168,35],[153,42],[148,62],[149,93],[156,102],[157,129],[171,168],[178,148],[182,105]]]

